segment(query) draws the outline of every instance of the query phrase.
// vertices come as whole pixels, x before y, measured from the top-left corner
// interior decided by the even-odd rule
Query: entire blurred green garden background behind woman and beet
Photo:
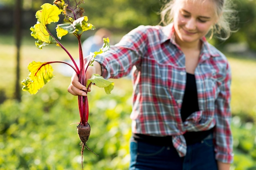
[[[82,6],[97,29],[105,27],[112,31],[110,43],[115,44],[141,24],[158,24],[157,13],[163,1],[85,0]],[[28,63],[68,59],[54,45],[39,50],[30,37],[29,28],[36,23],[35,13],[45,2],[52,3],[0,0],[0,170],[81,170],[77,97],[67,92],[70,76],[61,74],[61,64],[53,65],[56,77],[38,94],[21,91],[20,81],[28,75]],[[256,0],[234,3],[240,18],[238,32],[227,41],[210,42],[227,55],[232,69],[235,157],[231,170],[256,170]],[[52,31],[55,26],[50,27]],[[83,40],[94,33],[85,32]],[[20,37],[20,43],[15,37]],[[72,35],[63,37],[61,42],[73,56],[78,56]],[[86,170],[128,169],[132,85],[129,78],[112,81],[112,94],[92,87],[88,97],[92,129],[88,146],[99,157],[85,150]]]

